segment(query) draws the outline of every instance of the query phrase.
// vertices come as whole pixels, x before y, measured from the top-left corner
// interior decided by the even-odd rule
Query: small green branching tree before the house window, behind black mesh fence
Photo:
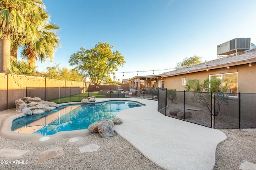
[[[200,82],[198,79],[188,79],[186,82],[185,90],[192,91],[194,94],[194,98],[192,100],[195,102],[199,102],[202,106],[206,106],[209,111],[214,110],[213,104],[211,100],[213,98],[212,93],[214,92],[215,96],[215,112],[214,115],[218,115],[220,113],[220,106],[224,102],[228,104],[228,96],[224,93],[227,92],[228,88],[232,86],[232,82],[228,79],[223,80],[224,86],[222,86],[221,79],[212,77],[210,80],[206,78],[204,82]],[[206,91],[207,93],[203,93],[202,91]],[[195,100],[196,99],[196,100]]]

